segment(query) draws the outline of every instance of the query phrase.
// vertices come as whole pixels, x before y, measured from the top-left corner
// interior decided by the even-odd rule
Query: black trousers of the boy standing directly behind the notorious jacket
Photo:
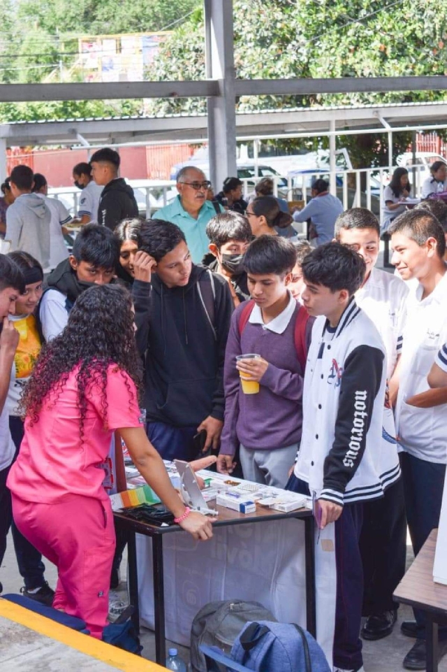
[[[397,608],[393,592],[405,573],[406,516],[402,478],[381,499],[363,502],[360,534],[363,564],[363,616]]]

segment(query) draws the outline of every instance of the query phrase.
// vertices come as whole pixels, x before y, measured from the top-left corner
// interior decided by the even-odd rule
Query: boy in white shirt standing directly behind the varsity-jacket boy
[[[404,489],[390,398],[397,394],[395,373],[402,351],[405,303],[409,290],[400,278],[375,267],[379,256],[380,226],[370,210],[352,208],[339,215],[335,222],[335,238],[339,243],[350,245],[365,260],[365,279],[356,292],[356,303],[365,310],[383,339],[390,387],[383,409],[380,456],[381,468],[388,473],[386,491],[381,499],[364,503],[360,536],[364,584],[362,615],[367,617],[362,637],[376,640],[393,631],[397,619],[393,592],[405,573]]]

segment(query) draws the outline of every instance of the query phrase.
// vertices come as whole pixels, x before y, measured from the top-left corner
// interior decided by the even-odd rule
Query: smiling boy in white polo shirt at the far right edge
[[[428,210],[411,210],[390,225],[392,263],[403,280],[416,278],[406,301],[404,344],[399,364],[396,427],[406,518],[415,555],[438,527],[447,461],[446,401],[430,389],[427,376],[447,341],[447,264],[444,231]],[[404,621],[402,633],[416,638],[404,668],[425,669],[425,613]],[[439,624],[438,656],[447,652],[447,621]]]

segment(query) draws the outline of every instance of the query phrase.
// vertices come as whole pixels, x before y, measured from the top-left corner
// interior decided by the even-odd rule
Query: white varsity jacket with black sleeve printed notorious
[[[318,317],[307,357],[295,464],[295,476],[318,499],[340,505],[376,499],[394,478],[376,457],[385,392],[385,348],[356,301],[346,307],[335,330]],[[398,465],[395,469],[398,478]]]

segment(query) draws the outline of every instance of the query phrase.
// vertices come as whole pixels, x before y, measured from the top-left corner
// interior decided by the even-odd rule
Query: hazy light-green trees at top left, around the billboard
[[[35,83],[69,69],[78,36],[173,27],[200,0],[2,0],[0,84]],[[74,71],[71,81],[79,79]],[[135,115],[142,101],[62,101],[0,105],[0,121]]]

